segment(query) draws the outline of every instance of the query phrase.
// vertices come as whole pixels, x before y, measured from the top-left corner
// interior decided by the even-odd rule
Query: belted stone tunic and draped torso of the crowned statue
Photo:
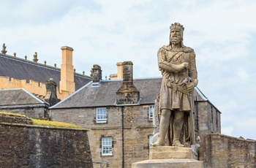
[[[170,45],[158,50],[159,70],[162,72],[162,85],[159,95],[159,112],[162,109],[189,111],[189,97],[186,85],[187,77],[197,79],[195,53],[190,47],[172,49]],[[189,63],[187,69],[170,69],[174,65]]]

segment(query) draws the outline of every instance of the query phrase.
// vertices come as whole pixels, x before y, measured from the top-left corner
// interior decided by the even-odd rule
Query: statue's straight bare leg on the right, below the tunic
[[[177,111],[174,113],[173,119],[173,146],[184,147],[181,144],[181,130],[184,124],[184,112]]]

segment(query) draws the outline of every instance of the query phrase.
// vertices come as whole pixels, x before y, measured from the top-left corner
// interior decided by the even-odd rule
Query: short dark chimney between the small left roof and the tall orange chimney
[[[50,78],[50,80],[46,81],[45,87],[46,87],[45,102],[48,102],[50,106],[53,106],[54,104],[59,102],[57,98],[57,91],[56,91],[57,84],[56,82],[53,81],[53,78]]]

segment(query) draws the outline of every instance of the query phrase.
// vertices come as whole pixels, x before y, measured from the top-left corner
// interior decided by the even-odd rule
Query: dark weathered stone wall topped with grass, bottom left
[[[93,167],[86,129],[6,121],[0,122],[0,167]]]

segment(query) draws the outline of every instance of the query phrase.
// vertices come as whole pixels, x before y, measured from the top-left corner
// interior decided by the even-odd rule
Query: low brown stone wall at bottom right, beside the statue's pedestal
[[[244,140],[223,134],[208,134],[201,148],[204,148],[203,161],[209,167],[256,167],[255,140]]]

